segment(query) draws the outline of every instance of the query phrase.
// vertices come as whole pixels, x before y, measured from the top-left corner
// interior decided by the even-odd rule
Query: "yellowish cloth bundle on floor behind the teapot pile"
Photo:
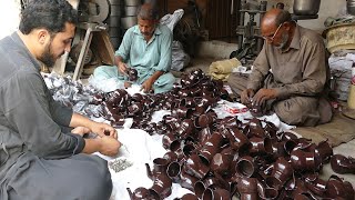
[[[242,66],[236,59],[221,60],[212,62],[210,66],[210,76],[215,80],[226,81],[234,68]]]

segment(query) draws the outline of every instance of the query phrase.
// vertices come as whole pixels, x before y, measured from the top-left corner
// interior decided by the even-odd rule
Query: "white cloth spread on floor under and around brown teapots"
[[[233,103],[232,103],[233,104]],[[241,106],[241,103],[235,103],[235,106]],[[231,114],[223,109],[223,101],[220,101],[217,107],[213,109],[219,118],[224,118],[227,116],[237,116],[240,120],[245,122],[247,119],[252,119],[252,114],[247,112]],[[156,111],[152,116],[152,122],[161,121],[163,116],[170,114],[166,110]],[[264,116],[260,119],[266,119],[272,121],[281,130],[288,130],[294,127],[283,123],[276,114]],[[110,200],[130,200],[126,188],[134,191],[139,187],[150,188],[153,181],[146,174],[145,163],[153,167],[153,160],[155,158],[162,158],[166,150],[162,146],[162,136],[153,134],[150,136],[148,132],[140,129],[119,129],[119,140],[124,144],[120,149],[119,154],[115,158],[124,157],[133,163],[132,167],[126,168],[123,171],[115,172],[110,168],[113,191]],[[112,161],[115,158],[110,158],[99,154],[101,158]],[[172,194],[166,198],[166,200],[173,200],[175,198],[181,198],[185,193],[191,193],[190,190],[182,188],[180,184],[173,183]]]

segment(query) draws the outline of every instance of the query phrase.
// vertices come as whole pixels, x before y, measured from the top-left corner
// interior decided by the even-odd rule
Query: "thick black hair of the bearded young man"
[[[78,11],[67,0],[32,0],[21,12],[19,30],[29,34],[33,29],[62,32],[65,23],[78,23]]]

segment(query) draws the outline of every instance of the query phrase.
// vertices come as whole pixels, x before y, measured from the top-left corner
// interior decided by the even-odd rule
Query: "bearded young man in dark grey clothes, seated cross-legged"
[[[30,1],[19,31],[0,40],[1,200],[111,196],[108,163],[92,153],[118,153],[115,129],[60,106],[40,73],[39,61],[51,67],[70,51],[77,20],[67,0]],[[89,132],[99,137],[84,139]]]

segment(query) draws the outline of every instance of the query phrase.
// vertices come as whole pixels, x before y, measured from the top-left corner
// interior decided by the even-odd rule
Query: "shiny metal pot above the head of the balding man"
[[[320,11],[321,0],[295,0],[293,12],[297,16],[314,16]]]

